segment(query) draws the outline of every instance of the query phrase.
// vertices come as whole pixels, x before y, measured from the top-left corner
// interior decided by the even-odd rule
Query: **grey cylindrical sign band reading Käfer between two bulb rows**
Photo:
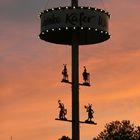
[[[41,15],[41,31],[65,28],[88,27],[108,31],[109,15],[94,9],[57,9]]]

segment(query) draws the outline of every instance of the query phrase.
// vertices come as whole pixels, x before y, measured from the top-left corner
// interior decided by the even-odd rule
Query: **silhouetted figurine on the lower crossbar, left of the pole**
[[[64,104],[61,103],[61,100],[58,100],[58,104],[59,104],[59,108],[60,108],[59,119],[67,120],[67,118],[65,117],[67,114],[67,109],[65,109]]]

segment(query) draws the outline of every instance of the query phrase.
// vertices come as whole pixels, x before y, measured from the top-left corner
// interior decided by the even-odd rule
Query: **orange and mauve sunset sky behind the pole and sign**
[[[91,87],[80,87],[80,120],[92,103],[98,125],[81,124],[81,140],[92,140],[113,120],[140,125],[140,0],[79,0],[79,5],[111,13],[111,39],[80,46]],[[70,5],[70,0],[0,0],[0,140],[57,140],[71,137],[71,124],[55,121],[58,100],[71,119],[71,86],[62,84],[67,64],[71,75],[71,46],[38,39],[39,11]],[[70,78],[71,79],[71,78]]]

